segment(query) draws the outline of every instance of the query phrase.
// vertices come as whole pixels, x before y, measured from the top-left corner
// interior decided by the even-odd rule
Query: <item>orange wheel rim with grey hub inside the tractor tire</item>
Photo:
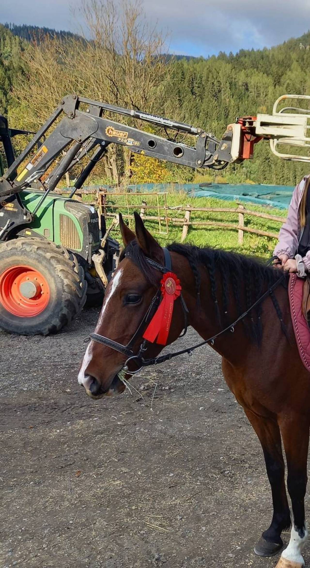
[[[0,304],[10,314],[33,318],[45,310],[49,298],[46,279],[31,266],[10,266],[0,274]]]

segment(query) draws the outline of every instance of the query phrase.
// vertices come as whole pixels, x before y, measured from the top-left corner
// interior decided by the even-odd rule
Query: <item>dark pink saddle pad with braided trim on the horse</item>
[[[310,330],[301,307],[303,300],[303,285],[303,278],[298,278],[296,274],[290,274],[288,298],[290,299],[290,310],[295,339],[301,361],[305,368],[310,371]]]

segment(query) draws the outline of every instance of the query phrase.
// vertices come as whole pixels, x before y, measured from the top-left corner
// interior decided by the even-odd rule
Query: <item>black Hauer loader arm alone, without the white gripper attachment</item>
[[[81,103],[88,105],[85,111],[79,110]],[[103,117],[103,111],[128,115],[156,124],[159,127],[175,130],[184,135],[192,135],[196,138],[196,147],[190,147],[162,136],[138,130],[127,124],[114,122],[105,118],[105,116]],[[61,115],[62,120],[58,122],[49,135],[46,135],[39,151],[33,155],[35,145],[45,136],[56,120],[61,118]],[[113,107],[83,97],[78,98],[77,95],[68,95],[61,101],[61,105],[36,133],[6,174],[0,178],[0,197],[19,193],[26,187],[32,186],[33,183],[37,183],[50,165],[59,156],[62,156],[62,153],[68,147],[70,149],[67,150],[65,156],[61,157],[48,178],[44,182],[40,181],[40,188],[46,192],[52,191],[63,174],[96,145],[100,147],[100,151],[97,150],[97,159],[104,155],[109,144],[114,143],[126,146],[135,153],[159,160],[167,160],[190,168],[223,168],[232,159],[230,154],[232,132],[226,133],[226,139],[226,143],[221,145],[221,141],[214,136],[189,124],[173,122],[161,116],[148,115],[140,111]],[[22,164],[24,164],[24,168],[16,176],[16,170]],[[88,166],[88,170],[90,170],[90,166]]]

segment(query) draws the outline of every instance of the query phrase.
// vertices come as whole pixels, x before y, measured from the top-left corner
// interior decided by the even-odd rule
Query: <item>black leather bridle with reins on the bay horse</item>
[[[150,264],[150,266],[152,266],[152,268],[159,270],[159,272],[162,272],[162,274],[166,274],[167,272],[171,272],[172,263],[171,263],[171,256],[170,256],[169,250],[167,248],[163,248],[163,253],[164,253],[164,262],[165,262],[164,266],[159,264],[158,262],[155,262],[151,258],[146,257],[146,260],[147,260],[148,264]],[[127,253],[125,254],[125,256],[130,258],[130,255],[127,254]],[[269,262],[271,263],[271,262],[273,262],[274,260],[277,260],[277,259],[278,259],[278,257],[273,257],[273,258],[271,258],[271,260]],[[279,263],[277,262],[275,264],[279,264]],[[137,338],[140,335],[143,335],[143,333],[145,332],[145,330],[147,328],[148,323],[150,322],[150,320],[152,319],[156,310],[159,307],[160,301],[162,299],[162,292],[161,292],[160,287],[157,290],[155,296],[152,298],[150,306],[148,307],[148,310],[147,310],[144,318],[142,319],[141,323],[138,325],[137,330],[134,332],[134,335],[131,337],[131,339],[130,339],[130,341],[127,345],[122,345],[121,343],[117,343],[117,341],[114,341],[113,339],[109,339],[108,337],[105,337],[104,335],[100,335],[99,333],[91,333],[90,339],[93,340],[93,341],[96,341],[97,343],[101,343],[102,345],[105,345],[107,347],[110,347],[111,349],[114,349],[114,351],[118,351],[119,353],[122,353],[123,355],[128,357],[127,360],[125,361],[123,370],[128,371],[129,370],[128,365],[130,363],[131,364],[134,363],[135,365],[138,366],[138,369],[135,370],[135,371],[129,371],[129,372],[130,372],[130,374],[135,374],[135,373],[138,373],[138,371],[141,370],[142,367],[147,367],[149,365],[158,365],[159,363],[163,363],[164,361],[169,361],[173,357],[177,357],[177,356],[182,355],[184,353],[187,353],[188,355],[192,355],[192,352],[194,351],[194,349],[198,349],[198,347],[201,347],[202,345],[206,345],[206,344],[214,345],[215,339],[217,337],[219,337],[220,335],[222,335],[223,333],[225,333],[227,331],[231,331],[231,333],[233,333],[235,331],[235,325],[237,323],[239,323],[239,321],[242,321],[245,318],[245,316],[247,316],[249,314],[249,312],[253,310],[253,308],[255,308],[256,306],[258,306],[258,304],[263,302],[265,300],[265,298],[267,298],[267,296],[272,294],[273,291],[275,290],[275,288],[281,282],[283,282],[284,278],[285,278],[285,275],[283,274],[281,278],[279,278],[276,282],[274,282],[274,284],[272,286],[270,286],[269,289],[264,294],[262,294],[262,296],[260,296],[260,298],[258,298],[258,300],[256,300],[256,302],[254,302],[252,304],[252,306],[250,306],[248,308],[248,310],[243,312],[243,314],[241,314],[231,324],[227,325],[226,328],[222,329],[221,331],[219,331],[218,333],[216,333],[212,337],[209,337],[209,339],[206,339],[204,341],[200,341],[199,343],[193,345],[192,347],[189,347],[189,348],[186,348],[186,349],[181,349],[180,351],[175,351],[175,352],[172,352],[172,353],[166,353],[165,355],[146,359],[144,357],[144,355],[145,355],[145,352],[148,349],[148,343],[149,342],[144,339],[142,341],[141,345],[140,345],[138,354],[135,355],[134,352],[133,352],[133,347],[134,347],[135,342],[137,341]],[[184,331],[180,335],[180,337],[183,337],[185,335],[187,329],[188,329],[188,308],[186,307],[186,304],[185,304],[185,301],[184,301],[182,294],[180,295],[180,301],[181,301],[182,310],[184,312]]]

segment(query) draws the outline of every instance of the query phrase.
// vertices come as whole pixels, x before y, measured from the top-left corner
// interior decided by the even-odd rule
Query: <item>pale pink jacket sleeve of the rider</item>
[[[298,250],[298,244],[299,244],[298,243],[298,206],[299,206],[299,191],[300,191],[299,186],[300,184],[298,184],[295,187],[294,192],[292,194],[292,199],[290,207],[288,208],[286,222],[283,223],[280,229],[279,240],[277,245],[275,245],[275,249],[273,252],[274,256],[279,256],[279,254],[287,254],[288,258],[294,258]],[[308,262],[310,268],[310,256],[308,258]]]

